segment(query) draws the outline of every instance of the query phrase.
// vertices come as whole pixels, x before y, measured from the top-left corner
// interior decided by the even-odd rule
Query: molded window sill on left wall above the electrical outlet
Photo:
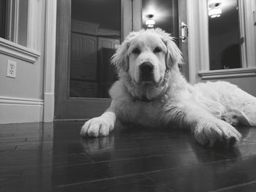
[[[2,38],[0,38],[0,53],[28,61],[32,64],[34,64],[40,56],[40,53],[36,50],[31,50]]]

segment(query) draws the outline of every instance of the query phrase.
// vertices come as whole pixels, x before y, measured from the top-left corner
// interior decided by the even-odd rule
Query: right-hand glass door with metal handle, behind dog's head
[[[141,26],[146,28],[146,20],[151,17],[155,27],[162,28],[175,37],[184,59],[180,69],[184,77],[189,80],[187,0],[134,0],[133,7],[141,12],[141,15],[133,13],[135,31]]]

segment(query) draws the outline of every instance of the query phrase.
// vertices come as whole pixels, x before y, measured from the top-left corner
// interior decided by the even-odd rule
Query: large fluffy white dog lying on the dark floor
[[[181,52],[161,29],[132,32],[113,55],[119,80],[108,110],[88,120],[81,135],[107,136],[116,119],[146,127],[189,127],[202,145],[233,144],[236,126],[256,126],[256,98],[229,82],[190,85],[178,64]],[[233,126],[232,126],[233,125]]]

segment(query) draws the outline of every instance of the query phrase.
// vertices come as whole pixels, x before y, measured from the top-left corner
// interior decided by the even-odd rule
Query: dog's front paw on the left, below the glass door
[[[113,129],[113,124],[106,118],[98,117],[84,123],[80,134],[82,136],[99,137],[107,136]]]

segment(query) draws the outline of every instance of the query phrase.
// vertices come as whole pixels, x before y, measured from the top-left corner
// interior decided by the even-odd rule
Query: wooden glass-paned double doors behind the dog
[[[173,32],[187,63],[187,29],[180,24],[187,22],[186,0],[155,2],[57,1],[56,120],[86,120],[108,108],[108,89],[117,80],[110,57],[130,31],[145,27],[146,7],[152,4],[166,9],[166,17],[162,23],[156,20],[156,27]],[[157,12],[154,14],[157,17]],[[186,77],[187,69],[187,64],[181,66]]]

